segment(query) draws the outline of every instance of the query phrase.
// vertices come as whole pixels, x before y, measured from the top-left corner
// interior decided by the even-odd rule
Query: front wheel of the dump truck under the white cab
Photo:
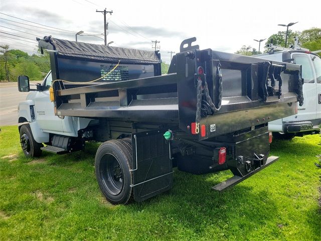
[[[35,141],[29,125],[23,125],[20,128],[20,144],[26,157],[40,157],[43,147],[42,143]]]

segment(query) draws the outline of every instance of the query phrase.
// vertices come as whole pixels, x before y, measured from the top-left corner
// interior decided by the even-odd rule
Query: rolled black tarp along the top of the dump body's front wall
[[[51,38],[51,41],[60,56],[112,62],[120,60],[121,62],[143,64],[157,64],[162,62],[154,51],[110,47],[55,38]]]

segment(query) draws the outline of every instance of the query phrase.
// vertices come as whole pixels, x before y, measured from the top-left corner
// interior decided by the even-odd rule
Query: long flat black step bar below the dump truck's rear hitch
[[[279,157],[270,156],[267,158],[264,166],[261,166],[261,167],[255,169],[254,171],[250,172],[249,174],[245,175],[244,177],[234,176],[229,179],[226,179],[224,182],[221,182],[221,183],[215,185],[214,187],[212,187],[212,189],[215,191],[218,191],[218,192],[226,191],[227,189],[235,186],[236,184],[244,181],[245,179],[249,178],[253,174],[255,174],[255,173],[261,171],[262,169],[266,168],[267,166],[271,165],[272,163],[274,163],[278,159],[279,159]]]

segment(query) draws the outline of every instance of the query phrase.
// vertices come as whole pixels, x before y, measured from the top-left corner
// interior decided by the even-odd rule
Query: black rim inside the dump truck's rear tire
[[[112,154],[105,154],[100,162],[101,180],[112,195],[118,195],[123,189],[124,175],[117,158]]]

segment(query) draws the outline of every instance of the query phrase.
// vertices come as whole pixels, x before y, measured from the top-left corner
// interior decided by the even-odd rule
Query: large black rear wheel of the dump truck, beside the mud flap
[[[95,172],[98,185],[112,204],[126,204],[133,194],[131,145],[123,140],[101,144],[96,152]]]

